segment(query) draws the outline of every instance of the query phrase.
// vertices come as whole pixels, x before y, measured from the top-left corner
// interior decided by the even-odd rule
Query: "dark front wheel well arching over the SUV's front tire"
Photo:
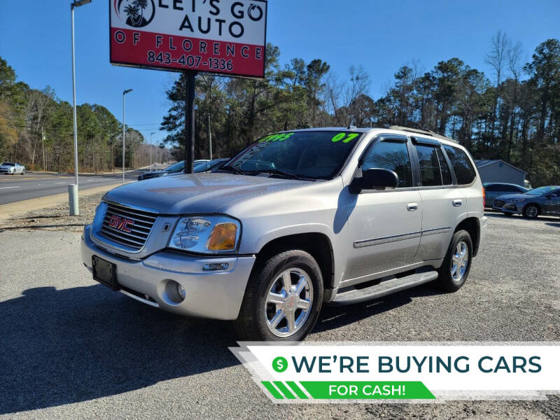
[[[273,239],[260,249],[254,267],[260,266],[268,258],[288,249],[301,249],[310,253],[321,268],[325,288],[332,288],[335,272],[334,256],[330,240],[322,233],[301,233]]]

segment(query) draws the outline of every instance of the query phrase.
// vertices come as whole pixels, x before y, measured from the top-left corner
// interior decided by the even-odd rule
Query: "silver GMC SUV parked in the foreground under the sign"
[[[241,339],[300,340],[323,304],[463,286],[486,230],[467,151],[419,130],[259,139],[213,173],[111,190],[83,232],[93,278]]]

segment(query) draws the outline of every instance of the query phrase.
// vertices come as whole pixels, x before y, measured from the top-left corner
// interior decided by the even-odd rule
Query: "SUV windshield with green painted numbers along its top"
[[[344,165],[360,133],[307,131],[271,134],[249,146],[224,168],[242,172],[284,172],[331,179]]]

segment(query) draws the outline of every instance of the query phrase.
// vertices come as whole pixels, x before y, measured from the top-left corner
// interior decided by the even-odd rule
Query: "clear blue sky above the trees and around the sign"
[[[18,80],[36,89],[54,88],[71,102],[70,5],[62,0],[0,0],[0,57]],[[109,1],[93,0],[76,9],[76,97],[78,104],[102,104],[148,140],[165,137],[159,125],[169,109],[165,91],[179,73],[131,69],[109,63]],[[294,57],[320,58],[345,78],[362,65],[371,79],[370,95],[386,91],[403,64],[425,71],[458,57],[493,78],[484,63],[491,37],[505,31],[531,59],[547,38],[560,38],[560,1],[377,1],[269,0],[267,41]],[[79,130],[79,127],[78,127]]]

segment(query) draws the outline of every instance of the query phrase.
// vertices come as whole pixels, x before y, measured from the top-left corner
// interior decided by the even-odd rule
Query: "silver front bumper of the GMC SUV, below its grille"
[[[91,225],[84,228],[81,241],[83,264],[92,269],[92,255],[117,266],[117,281],[125,295],[176,314],[204,318],[235,319],[239,314],[245,288],[255,256],[204,257],[172,251],[161,251],[144,258],[130,260],[109,253],[90,239]],[[228,262],[221,271],[204,271],[209,262]],[[167,294],[169,281],[180,283],[185,299],[176,303]]]

